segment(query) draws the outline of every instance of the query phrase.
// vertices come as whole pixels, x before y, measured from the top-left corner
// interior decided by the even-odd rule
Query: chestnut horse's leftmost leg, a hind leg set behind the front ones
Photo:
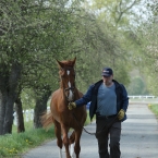
[[[58,121],[54,120],[54,134],[57,137],[57,145],[62,148],[62,139],[61,139],[61,125]]]

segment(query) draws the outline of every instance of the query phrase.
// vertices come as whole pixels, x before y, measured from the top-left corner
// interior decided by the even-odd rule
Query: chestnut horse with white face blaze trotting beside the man
[[[60,87],[53,92],[50,102],[50,113],[47,114],[44,126],[46,127],[51,122],[54,124],[54,133],[57,136],[57,145],[60,148],[64,145],[66,158],[71,158],[69,145],[74,143],[74,153],[76,158],[80,157],[81,145],[80,139],[82,135],[82,126],[86,120],[86,107],[75,108],[69,110],[68,105],[70,101],[74,101],[83,96],[75,86],[75,60],[58,61],[59,64],[59,76]],[[74,119],[73,114],[75,114]],[[45,116],[46,118],[46,116]],[[78,125],[80,123],[80,125]],[[73,129],[71,136],[69,137],[69,130]]]

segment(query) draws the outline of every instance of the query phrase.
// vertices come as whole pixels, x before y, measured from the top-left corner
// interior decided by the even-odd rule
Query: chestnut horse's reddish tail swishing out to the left
[[[41,116],[41,124],[42,124],[42,127],[46,130],[49,130],[49,127],[53,124],[53,117],[52,117],[51,111],[45,112]]]

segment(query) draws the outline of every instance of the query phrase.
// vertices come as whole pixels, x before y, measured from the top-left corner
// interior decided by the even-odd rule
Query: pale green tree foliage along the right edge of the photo
[[[147,1],[147,10],[150,13],[148,21],[146,20],[137,29],[137,39],[139,40],[138,51],[133,53],[134,64],[138,66],[146,78],[147,89],[149,94],[158,95],[157,80],[158,71],[158,34],[157,34],[157,2]]]

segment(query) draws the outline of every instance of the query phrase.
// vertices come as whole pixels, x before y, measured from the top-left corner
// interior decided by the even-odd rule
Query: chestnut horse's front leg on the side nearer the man
[[[80,145],[81,135],[82,135],[82,130],[75,130],[74,153],[76,155],[76,158],[80,158],[80,153],[81,153],[81,145]]]

